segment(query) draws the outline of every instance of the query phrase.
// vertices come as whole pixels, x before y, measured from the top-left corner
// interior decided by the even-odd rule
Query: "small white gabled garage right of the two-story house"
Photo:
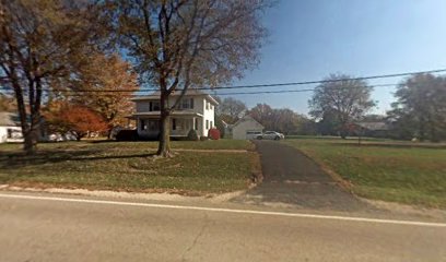
[[[225,134],[235,140],[250,139],[250,133],[262,132],[265,127],[256,121],[253,117],[246,115],[234,124],[225,126]]]

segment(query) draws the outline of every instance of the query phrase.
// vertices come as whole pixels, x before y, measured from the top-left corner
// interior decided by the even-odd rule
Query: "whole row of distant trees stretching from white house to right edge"
[[[383,122],[390,139],[438,142],[446,140],[446,78],[416,74],[403,80],[395,93],[392,109],[385,116],[371,115],[376,102],[365,80],[332,74],[316,86],[307,118],[289,108],[258,104],[248,109],[235,98],[221,99],[220,120],[234,123],[248,114],[266,129],[285,134],[361,135],[361,122]]]

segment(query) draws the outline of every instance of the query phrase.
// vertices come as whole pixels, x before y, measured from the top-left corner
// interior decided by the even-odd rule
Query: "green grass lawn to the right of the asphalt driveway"
[[[357,195],[446,209],[446,146],[411,142],[294,139],[290,144],[336,171]]]

